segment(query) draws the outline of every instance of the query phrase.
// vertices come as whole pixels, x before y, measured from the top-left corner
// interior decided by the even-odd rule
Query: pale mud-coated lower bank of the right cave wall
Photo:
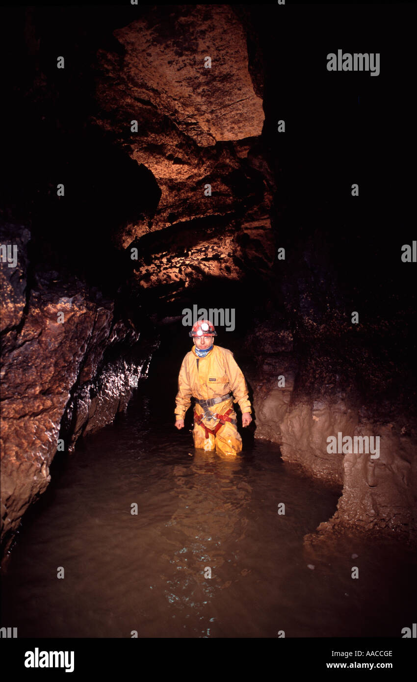
[[[285,375],[281,364],[277,376]],[[277,382],[275,382],[277,383]],[[296,462],[314,477],[343,486],[337,511],[323,522],[319,531],[337,528],[395,531],[415,540],[416,519],[416,438],[405,434],[397,419],[386,424],[369,421],[345,402],[337,399],[292,400],[292,390],[270,387],[255,392],[256,436],[278,443],[283,460]],[[329,454],[328,436],[379,436],[380,456],[369,454]]]

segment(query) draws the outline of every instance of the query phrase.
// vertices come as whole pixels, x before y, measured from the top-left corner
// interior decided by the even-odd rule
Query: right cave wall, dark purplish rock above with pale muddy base
[[[401,388],[395,388],[389,403],[387,399],[372,400],[360,388],[365,383],[376,394],[381,389],[372,362],[364,364],[354,380],[352,376],[343,378],[343,364],[350,364],[351,351],[345,351],[348,357],[339,357],[338,365],[335,355],[330,359],[323,349],[314,353],[317,344],[310,339],[311,350],[304,355],[303,344],[300,357],[292,342],[299,338],[300,330],[293,336],[282,325],[277,327],[274,333],[271,321],[263,326],[259,323],[256,332],[258,363],[249,375],[256,437],[279,443],[283,460],[300,464],[309,475],[341,486],[337,511],[320,524],[318,536],[350,528],[395,533],[415,541],[417,429],[412,409],[399,407]],[[253,343],[249,336],[248,350]],[[337,348],[337,340],[333,339],[332,345]],[[375,366],[380,368],[377,363]],[[329,453],[327,439],[339,432],[352,439],[379,436],[379,457],[371,457],[371,451],[349,452],[348,446],[345,452]],[[375,447],[377,441],[371,442]],[[306,537],[306,542],[314,541],[314,536]]]

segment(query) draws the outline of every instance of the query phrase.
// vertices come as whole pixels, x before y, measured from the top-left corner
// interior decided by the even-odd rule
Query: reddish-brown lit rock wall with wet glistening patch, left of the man
[[[71,450],[81,434],[125,409],[151,353],[97,289],[75,278],[63,282],[53,271],[30,273],[29,284],[29,239],[25,226],[1,230],[1,243],[18,249],[16,267],[0,266],[4,551],[22,514],[48,486],[57,448]]]

